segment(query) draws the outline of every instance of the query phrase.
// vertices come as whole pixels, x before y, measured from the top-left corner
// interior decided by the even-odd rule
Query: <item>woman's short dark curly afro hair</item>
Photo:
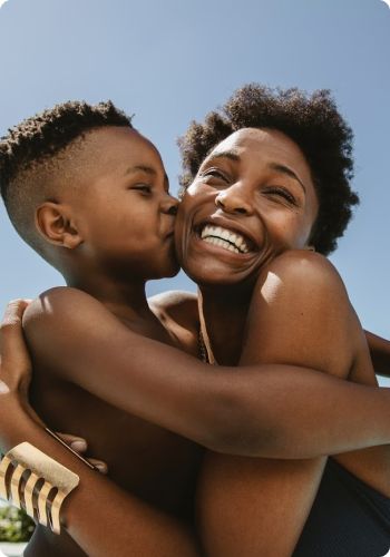
[[[257,84],[236,90],[204,123],[193,121],[178,140],[184,168],[182,190],[195,178],[209,152],[242,128],[280,130],[301,148],[320,205],[310,243],[324,255],[335,250],[337,238],[343,235],[359,197],[350,186],[352,130],[339,114],[330,91],[321,89],[308,95],[296,88],[270,89]]]

